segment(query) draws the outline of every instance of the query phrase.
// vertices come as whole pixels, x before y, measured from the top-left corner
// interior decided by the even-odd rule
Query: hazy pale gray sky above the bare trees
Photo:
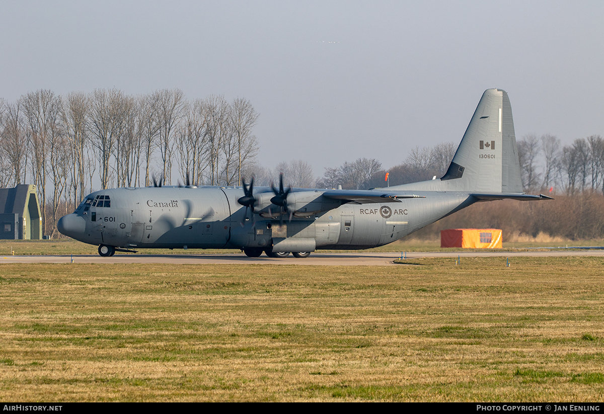
[[[487,88],[508,92],[518,138],[604,135],[602,1],[0,5],[0,97],[244,97],[269,168],[400,164],[416,145],[458,142]]]

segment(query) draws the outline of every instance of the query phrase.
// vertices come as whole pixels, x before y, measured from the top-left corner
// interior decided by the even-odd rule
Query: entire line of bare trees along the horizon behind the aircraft
[[[12,103],[0,99],[0,187],[36,185],[43,232],[55,235],[58,218],[99,182],[101,189],[158,182],[240,185],[243,177],[248,182],[254,177],[255,185],[268,186],[282,173],[292,187],[368,189],[441,177],[457,149],[456,142],[414,147],[404,162],[390,168],[377,159],[358,158],[327,167],[320,177],[300,159],[271,170],[255,161],[260,149],[253,133],[258,118],[244,98],[226,101],[212,95],[190,101],[179,89],[139,96],[118,89],[66,96],[39,90]],[[557,199],[567,204],[588,193],[592,197],[588,205],[599,203],[597,195],[604,194],[604,139],[599,135],[564,146],[556,136],[527,135],[518,140],[518,153],[528,193],[564,194],[570,198]],[[540,208],[552,205],[558,202]],[[582,238],[599,234],[600,226],[592,223],[579,231],[542,223],[541,230],[527,227],[527,231],[546,228]]]

